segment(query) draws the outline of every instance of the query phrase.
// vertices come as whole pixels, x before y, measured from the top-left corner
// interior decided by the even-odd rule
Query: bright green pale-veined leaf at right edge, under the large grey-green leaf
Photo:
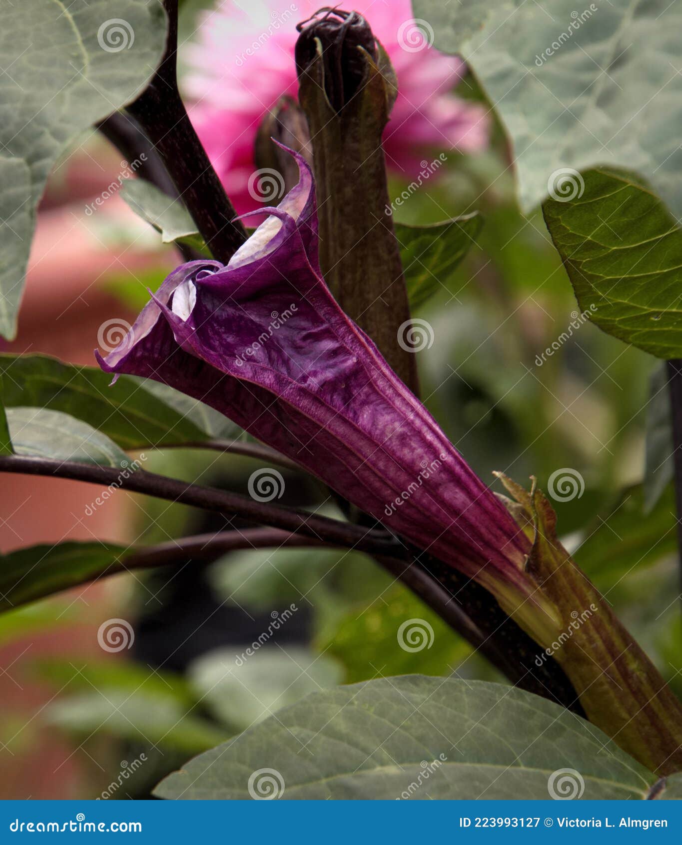
[[[682,355],[682,232],[639,180],[585,173],[571,202],[543,206],[582,312],[609,335],[662,358]]]

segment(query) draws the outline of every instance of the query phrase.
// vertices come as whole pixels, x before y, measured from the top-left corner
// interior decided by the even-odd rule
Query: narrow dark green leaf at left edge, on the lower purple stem
[[[101,503],[101,497],[106,496],[107,491],[97,496],[93,493],[89,507],[96,509],[97,499]],[[28,546],[3,554],[0,556],[0,613],[93,581],[105,573],[122,572],[126,555],[132,552],[132,547],[111,542],[70,541]]]

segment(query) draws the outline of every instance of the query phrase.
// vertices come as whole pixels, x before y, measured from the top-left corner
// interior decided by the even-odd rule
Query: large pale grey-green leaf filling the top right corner
[[[414,0],[413,8],[436,47],[461,53],[501,118],[523,210],[547,196],[557,171],[609,165],[640,173],[682,215],[679,3],[612,0],[576,12],[565,0]]]

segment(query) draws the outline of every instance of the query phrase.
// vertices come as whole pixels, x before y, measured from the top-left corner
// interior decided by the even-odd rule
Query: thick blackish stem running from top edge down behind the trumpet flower
[[[168,39],[154,78],[127,112],[133,115],[164,162],[182,202],[215,258],[226,264],[246,230],[208,161],[177,87],[177,0],[164,0]]]

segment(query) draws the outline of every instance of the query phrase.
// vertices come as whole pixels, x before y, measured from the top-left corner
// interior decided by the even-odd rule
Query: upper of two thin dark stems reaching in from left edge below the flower
[[[404,547],[391,535],[374,529],[361,528],[346,522],[329,519],[327,516],[309,514],[305,510],[283,508],[267,502],[257,502],[210,487],[178,481],[154,472],[137,470],[127,477],[116,467],[75,464],[51,461],[47,458],[28,458],[23,455],[0,457],[0,472],[20,472],[24,475],[54,476],[71,478],[100,484],[105,487],[122,488],[133,493],[145,493],[157,499],[191,504],[203,510],[213,510],[230,516],[239,516],[250,522],[264,523],[287,532],[297,532],[320,542],[340,544],[359,551],[402,557]]]

